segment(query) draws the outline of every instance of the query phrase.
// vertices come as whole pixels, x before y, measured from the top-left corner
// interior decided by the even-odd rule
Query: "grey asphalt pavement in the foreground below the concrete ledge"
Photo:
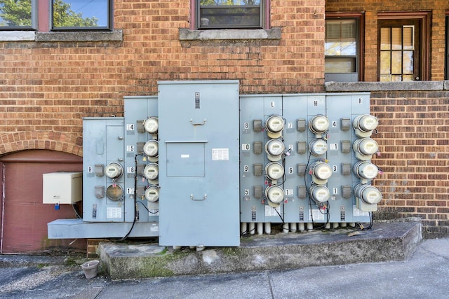
[[[17,258],[0,256],[0,298],[449,298],[449,239],[424,240],[403,261],[115,281]]]

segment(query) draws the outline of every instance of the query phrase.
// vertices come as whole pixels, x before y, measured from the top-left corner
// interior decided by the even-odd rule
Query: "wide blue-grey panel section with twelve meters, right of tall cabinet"
[[[240,107],[242,233],[370,221],[382,195],[368,93],[241,96]]]

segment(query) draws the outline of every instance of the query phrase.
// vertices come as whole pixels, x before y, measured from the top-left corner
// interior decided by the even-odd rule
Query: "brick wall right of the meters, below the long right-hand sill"
[[[424,237],[449,234],[449,91],[372,92],[380,120],[373,162],[383,200],[377,219],[419,217]]]

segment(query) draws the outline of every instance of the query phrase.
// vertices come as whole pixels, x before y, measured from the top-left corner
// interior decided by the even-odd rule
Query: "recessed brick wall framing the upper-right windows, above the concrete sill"
[[[339,1],[327,0],[326,12],[365,12],[365,81],[377,81],[377,13],[379,12],[431,12],[430,80],[444,79],[445,11],[449,2],[443,0],[424,1]]]

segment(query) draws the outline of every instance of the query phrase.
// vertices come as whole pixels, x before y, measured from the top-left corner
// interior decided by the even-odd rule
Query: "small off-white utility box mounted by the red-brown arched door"
[[[83,200],[82,172],[42,174],[43,204],[74,204]]]

